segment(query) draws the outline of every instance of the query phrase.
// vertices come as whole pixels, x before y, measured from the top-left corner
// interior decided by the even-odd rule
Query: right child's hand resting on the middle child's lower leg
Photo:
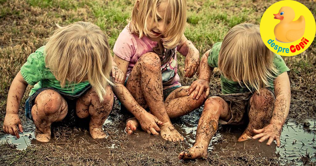
[[[204,98],[206,99],[207,96],[210,94],[210,85],[207,80],[204,79],[197,79],[194,81],[190,88],[187,89],[186,91],[188,92],[188,95],[191,95],[191,93],[194,91],[193,99],[199,99],[200,96],[202,95],[203,91],[205,91]]]

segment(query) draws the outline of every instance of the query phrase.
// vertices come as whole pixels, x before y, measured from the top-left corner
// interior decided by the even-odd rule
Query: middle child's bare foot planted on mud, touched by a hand
[[[160,135],[167,141],[184,141],[182,135],[173,127],[170,122],[166,122],[160,126]]]

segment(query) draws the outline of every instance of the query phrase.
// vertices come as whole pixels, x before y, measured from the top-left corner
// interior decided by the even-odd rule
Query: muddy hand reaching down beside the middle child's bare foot
[[[154,115],[145,112],[138,119],[142,129],[148,133],[152,133],[154,135],[159,135],[160,128],[158,125],[162,125],[162,122],[156,118]]]

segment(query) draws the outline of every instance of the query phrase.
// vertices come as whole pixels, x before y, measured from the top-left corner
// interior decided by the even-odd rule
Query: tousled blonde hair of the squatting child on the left
[[[75,22],[55,30],[45,46],[45,64],[64,87],[88,82],[100,101],[110,81],[111,54],[106,35],[90,22]]]

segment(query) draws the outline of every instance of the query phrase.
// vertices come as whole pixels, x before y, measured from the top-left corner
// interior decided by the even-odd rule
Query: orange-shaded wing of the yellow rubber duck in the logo
[[[296,21],[290,23],[290,30],[285,34],[285,37],[289,41],[295,41],[301,38],[305,32],[305,19],[304,16],[300,16]]]

